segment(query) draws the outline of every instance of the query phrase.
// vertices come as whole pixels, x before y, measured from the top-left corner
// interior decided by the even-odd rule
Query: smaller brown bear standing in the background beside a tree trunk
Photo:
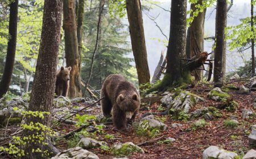
[[[71,67],[64,68],[63,66],[57,71],[55,93],[58,97],[68,96],[70,71]]]

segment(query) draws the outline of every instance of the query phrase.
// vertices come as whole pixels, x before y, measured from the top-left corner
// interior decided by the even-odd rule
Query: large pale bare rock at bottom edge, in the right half
[[[233,159],[236,156],[238,156],[236,153],[225,151],[224,149],[220,149],[216,146],[210,146],[203,152],[203,159]]]

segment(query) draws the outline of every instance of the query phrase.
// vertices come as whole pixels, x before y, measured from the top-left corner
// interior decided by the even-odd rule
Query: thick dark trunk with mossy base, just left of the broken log
[[[187,1],[171,1],[170,40],[167,49],[166,74],[172,81],[182,81],[181,58],[185,58]],[[187,80],[187,79],[184,79]]]

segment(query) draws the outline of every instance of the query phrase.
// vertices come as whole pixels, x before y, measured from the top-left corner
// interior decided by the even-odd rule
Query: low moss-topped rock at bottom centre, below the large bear
[[[130,154],[133,152],[144,153],[143,149],[135,145],[134,143],[114,143],[112,147],[114,154]]]

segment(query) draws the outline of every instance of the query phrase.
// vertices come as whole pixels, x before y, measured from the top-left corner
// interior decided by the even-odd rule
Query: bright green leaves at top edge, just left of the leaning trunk
[[[114,18],[114,16],[123,18],[126,15],[126,1],[109,0],[109,14],[112,18]]]

